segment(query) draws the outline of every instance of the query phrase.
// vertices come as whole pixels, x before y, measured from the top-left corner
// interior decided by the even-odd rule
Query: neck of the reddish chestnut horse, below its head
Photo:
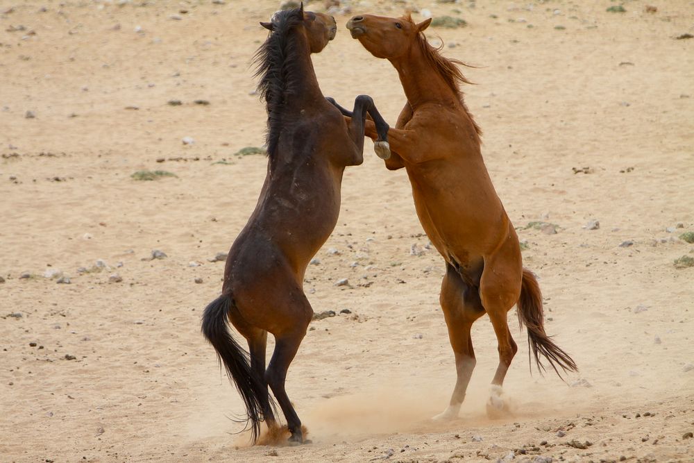
[[[398,70],[407,101],[416,108],[423,103],[440,101],[442,103],[458,100],[441,74],[430,65],[423,51],[416,44],[410,52],[398,60],[390,60]]]

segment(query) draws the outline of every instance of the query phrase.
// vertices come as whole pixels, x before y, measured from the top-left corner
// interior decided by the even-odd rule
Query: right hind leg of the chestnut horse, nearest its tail
[[[509,247],[512,251],[513,247]],[[509,254],[500,252],[484,260],[484,272],[480,280],[480,298],[484,310],[489,314],[499,351],[499,365],[491,381],[491,392],[486,407],[490,417],[509,412],[508,403],[503,398],[502,386],[518,346],[511,336],[507,314],[521,294],[521,272],[520,250],[518,258],[515,258],[513,253],[510,253],[509,257]]]

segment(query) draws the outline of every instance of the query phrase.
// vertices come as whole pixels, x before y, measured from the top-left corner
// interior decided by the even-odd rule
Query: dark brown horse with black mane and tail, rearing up
[[[221,296],[205,308],[202,330],[244,400],[253,442],[262,421],[277,425],[269,385],[287,419],[290,443],[302,443],[285,378],[313,315],[304,273],[337,223],[345,167],[364,160],[366,112],[377,121],[386,151],[388,125],[369,96],[357,96],[355,117],[346,124],[321,93],[310,55],[335,37],[333,17],[302,6],[261,24],[271,31],[256,53],[258,90],[268,112],[267,175],[248,224],[231,246]],[[246,338],[250,362],[227,319]],[[276,344],[265,369],[268,332]]]

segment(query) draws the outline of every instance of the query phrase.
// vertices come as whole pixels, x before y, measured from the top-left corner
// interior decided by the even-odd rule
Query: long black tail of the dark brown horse
[[[248,353],[239,346],[227,329],[226,319],[231,304],[231,297],[223,294],[205,308],[203,335],[217,351],[219,361],[224,364],[229,380],[236,385],[236,389],[246,403],[248,412],[246,426],[250,424],[253,444],[255,444],[260,436],[260,423],[264,420],[275,423],[273,413],[275,404],[267,392],[266,385],[251,371]]]

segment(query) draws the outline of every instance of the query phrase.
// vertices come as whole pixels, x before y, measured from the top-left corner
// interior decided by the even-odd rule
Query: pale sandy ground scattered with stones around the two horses
[[[694,461],[694,268],[673,265],[694,251],[678,239],[694,231],[694,40],[675,39],[694,33],[691,1],[654,1],[654,13],[643,1],[623,13],[609,1],[418,3],[468,21],[429,35],[477,66],[464,90],[486,164],[541,278],[547,329],[580,374],[531,374],[511,323],[515,416],[487,419],[498,357],[484,318],[460,419],[429,420],[455,380],[443,264],[405,173],[367,142],[307,271],[316,312],[352,313],[314,321],[291,366],[314,441],[298,448],[234,434],[242,403],[200,334],[223,272],[208,259],[246,224],[265,174],[263,156],[234,153],[262,144],[249,63],[277,3],[115,3],[0,1],[0,461]],[[371,94],[394,124],[396,72],[349,37],[348,17],[314,58],[323,92],[345,106]],[[176,178],[130,178],[141,169]],[[154,249],[168,257],[149,260]]]

